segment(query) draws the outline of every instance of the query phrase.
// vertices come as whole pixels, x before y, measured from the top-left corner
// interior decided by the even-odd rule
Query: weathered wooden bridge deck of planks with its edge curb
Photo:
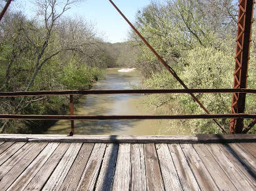
[[[256,190],[256,142],[82,137],[1,135],[0,190]]]

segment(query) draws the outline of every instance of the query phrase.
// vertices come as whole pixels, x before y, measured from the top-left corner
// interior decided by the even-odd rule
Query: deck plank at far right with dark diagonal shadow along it
[[[224,152],[225,156],[235,165],[235,167],[237,167],[238,172],[242,174],[244,179],[247,180],[256,189],[255,166],[250,165],[248,160],[244,161],[244,157],[241,156],[240,153],[235,152],[235,150],[232,149],[232,147],[230,147],[229,144],[219,144],[218,146],[220,150]],[[254,161],[254,159],[250,160],[250,162],[252,161]]]

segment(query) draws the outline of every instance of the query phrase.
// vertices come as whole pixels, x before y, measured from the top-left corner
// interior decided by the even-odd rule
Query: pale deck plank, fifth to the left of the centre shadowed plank
[[[41,169],[42,165],[49,159],[52,152],[54,152],[59,146],[59,143],[50,142],[44,148],[44,150],[34,159],[33,162],[27,167],[26,170],[22,172],[22,174],[15,180],[15,182],[9,187],[8,190],[23,190],[32,180],[32,178],[37,174],[37,172]]]

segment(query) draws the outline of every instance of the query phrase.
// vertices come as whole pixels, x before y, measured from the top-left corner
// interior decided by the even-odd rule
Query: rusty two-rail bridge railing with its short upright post
[[[14,96],[70,96],[69,115],[29,115],[29,114],[0,114],[0,119],[31,119],[31,120],[71,120],[70,136],[74,134],[74,120],[122,120],[122,119],[220,119],[220,118],[250,118],[256,114],[179,114],[179,115],[111,115],[86,116],[74,115],[73,95],[110,95],[110,94],[159,94],[159,93],[252,93],[254,89],[169,89],[169,90],[64,90],[64,91],[17,91],[0,92],[1,97]]]

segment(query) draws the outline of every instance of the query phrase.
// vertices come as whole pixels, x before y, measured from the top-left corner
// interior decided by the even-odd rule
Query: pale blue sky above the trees
[[[150,3],[150,0],[113,0],[124,15],[135,21],[135,14]],[[32,0],[16,0],[12,5],[14,8],[24,10],[28,17],[34,15],[35,6]],[[82,16],[86,21],[96,24],[96,29],[107,42],[124,42],[130,26],[114,9],[108,0],[86,0],[72,6],[66,12],[66,16]]]

